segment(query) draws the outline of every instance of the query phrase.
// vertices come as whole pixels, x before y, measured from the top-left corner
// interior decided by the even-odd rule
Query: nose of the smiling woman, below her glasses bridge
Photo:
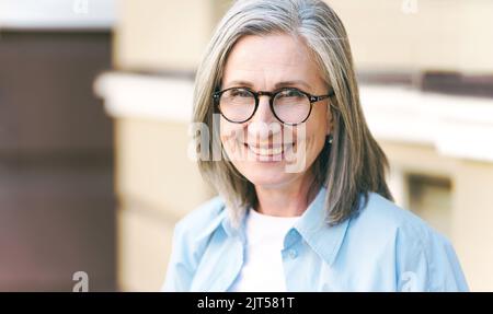
[[[259,97],[259,107],[248,126],[249,136],[260,139],[268,138],[280,131],[280,124],[271,111],[268,96]]]

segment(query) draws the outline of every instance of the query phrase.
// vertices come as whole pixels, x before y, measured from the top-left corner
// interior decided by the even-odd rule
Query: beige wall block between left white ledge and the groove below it
[[[116,123],[116,189],[121,197],[181,217],[209,194],[188,155],[188,124],[123,118]]]

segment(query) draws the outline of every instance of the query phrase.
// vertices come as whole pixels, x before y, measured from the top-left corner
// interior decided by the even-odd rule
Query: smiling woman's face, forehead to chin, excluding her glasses
[[[290,35],[244,36],[225,65],[221,90],[254,92],[296,88],[325,95],[328,86],[307,46]],[[297,126],[279,123],[268,96],[260,96],[254,116],[242,124],[220,118],[222,146],[237,170],[255,186],[280,187],[307,175],[332,128],[328,100],[313,103],[309,118]]]

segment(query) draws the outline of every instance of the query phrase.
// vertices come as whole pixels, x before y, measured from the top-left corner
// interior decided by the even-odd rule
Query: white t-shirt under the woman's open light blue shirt
[[[286,291],[282,249],[284,237],[299,217],[274,217],[250,209],[245,261],[230,291]]]

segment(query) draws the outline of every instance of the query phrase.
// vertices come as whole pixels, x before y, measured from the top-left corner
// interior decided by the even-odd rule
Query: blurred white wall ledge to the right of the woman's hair
[[[378,139],[429,144],[456,158],[493,161],[493,100],[362,86],[362,104]]]

